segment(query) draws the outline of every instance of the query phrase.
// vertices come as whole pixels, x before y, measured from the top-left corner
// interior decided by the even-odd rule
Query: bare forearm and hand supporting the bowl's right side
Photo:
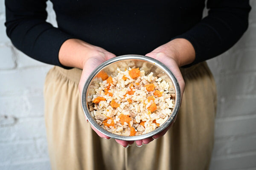
[[[179,67],[189,64],[195,59],[195,50],[191,43],[185,39],[175,39],[164,45],[161,45],[160,47],[154,49],[154,51],[151,51],[150,53],[146,54],[145,56],[152,57],[154,59],[159,60],[160,62],[163,62],[163,64],[165,64],[173,72],[180,85],[180,99],[182,99],[183,92],[185,89],[185,82]],[[173,125],[176,117],[174,118],[174,121],[171,123],[171,125],[166,127],[160,133],[143,140],[137,140],[137,146],[141,146],[142,144],[148,144],[154,139],[163,136]],[[117,142],[119,144],[122,144],[123,146],[126,146],[127,144],[126,141],[118,140]]]

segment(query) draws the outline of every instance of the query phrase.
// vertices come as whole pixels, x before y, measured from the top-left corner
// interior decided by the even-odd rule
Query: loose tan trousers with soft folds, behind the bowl
[[[206,62],[181,69],[186,83],[176,122],[153,142],[123,148],[101,139],[85,121],[81,70],[47,74],[45,121],[52,170],[207,170],[214,142],[215,82]]]

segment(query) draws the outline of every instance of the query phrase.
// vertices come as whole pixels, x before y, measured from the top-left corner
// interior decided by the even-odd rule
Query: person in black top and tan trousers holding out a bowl
[[[205,61],[232,47],[246,31],[248,0],[208,0],[203,19],[205,0],[51,1],[58,28],[46,22],[46,0],[6,0],[5,25],[15,47],[55,65],[44,87],[52,169],[208,169],[216,90]],[[133,141],[105,140],[109,137],[95,133],[81,109],[81,89],[91,71],[124,54],[163,62],[183,94],[176,122],[135,141],[139,147]]]

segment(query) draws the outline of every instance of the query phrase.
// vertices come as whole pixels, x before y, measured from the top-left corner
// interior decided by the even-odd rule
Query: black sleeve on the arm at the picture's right
[[[207,8],[207,17],[177,36],[189,40],[194,46],[196,58],[192,64],[227,51],[248,28],[250,6],[247,0],[209,0]]]

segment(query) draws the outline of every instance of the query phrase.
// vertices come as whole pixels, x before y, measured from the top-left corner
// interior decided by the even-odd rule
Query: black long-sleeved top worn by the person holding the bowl
[[[58,28],[45,20],[46,0],[6,0],[6,32],[28,56],[61,66],[58,51],[78,38],[116,55],[141,54],[173,38],[195,48],[192,64],[215,57],[235,44],[248,27],[248,0],[69,1],[52,0]]]

